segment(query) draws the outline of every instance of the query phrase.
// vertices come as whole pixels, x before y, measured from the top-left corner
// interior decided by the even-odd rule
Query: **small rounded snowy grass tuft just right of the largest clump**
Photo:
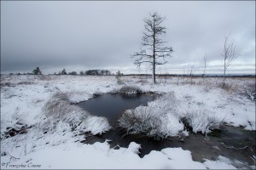
[[[219,129],[223,125],[223,120],[210,115],[207,111],[187,111],[183,117],[185,125],[192,128],[194,133],[211,133],[211,130]]]

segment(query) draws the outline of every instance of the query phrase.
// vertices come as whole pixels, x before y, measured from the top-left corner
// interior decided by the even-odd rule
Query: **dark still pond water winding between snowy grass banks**
[[[141,144],[140,156],[147,155],[151,150],[162,150],[167,147],[182,147],[183,150],[190,150],[194,161],[217,160],[218,156],[225,156],[231,160],[237,160],[248,165],[253,165],[251,156],[255,156],[255,131],[247,131],[242,127],[224,126],[221,131],[214,131],[205,135],[189,133],[183,139],[155,140],[138,135],[123,136],[116,126],[118,117],[123,111],[134,109],[139,105],[147,105],[148,101],[156,99],[157,94],[103,94],[88,101],[79,103],[79,106],[96,116],[105,116],[113,127],[108,133],[98,136],[86,137],[86,144],[104,142],[105,139],[111,147],[117,144],[120,147],[127,147],[132,141]],[[117,147],[118,149],[118,147]],[[239,164],[239,163],[238,163]],[[245,166],[245,165],[243,165]]]

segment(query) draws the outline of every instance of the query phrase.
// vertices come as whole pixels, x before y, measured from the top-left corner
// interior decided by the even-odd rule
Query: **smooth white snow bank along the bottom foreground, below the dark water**
[[[45,147],[44,150],[31,152],[11,162],[9,156],[1,156],[1,162],[4,162],[1,163],[1,168],[12,169],[12,165],[38,165],[42,169],[206,169],[203,163],[192,160],[189,150],[152,150],[140,158],[136,153],[138,147],[139,144],[132,142],[128,148],[113,150],[107,142],[67,142],[55,147]],[[212,166],[216,167],[218,163]]]

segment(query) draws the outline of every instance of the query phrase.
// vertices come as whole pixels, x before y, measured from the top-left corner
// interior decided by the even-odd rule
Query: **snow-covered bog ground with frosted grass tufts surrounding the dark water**
[[[198,135],[211,141],[222,127],[240,128],[255,136],[255,78],[226,81],[230,86],[221,88],[220,77],[204,81],[168,77],[154,84],[146,77],[121,77],[118,82],[112,76],[1,75],[1,169],[254,169],[255,144],[246,141],[243,145],[219,141],[211,152],[240,150],[247,160],[239,159],[237,153],[233,154],[236,159],[201,154],[200,161],[195,161],[194,151],[183,147],[140,156],[143,144],[134,141],[127,147],[111,147],[111,139],[86,143],[88,136],[101,138],[115,127],[107,117],[93,115],[77,104],[111,93],[160,94],[148,105],[120,113],[117,125],[125,136],[188,143],[186,139]]]

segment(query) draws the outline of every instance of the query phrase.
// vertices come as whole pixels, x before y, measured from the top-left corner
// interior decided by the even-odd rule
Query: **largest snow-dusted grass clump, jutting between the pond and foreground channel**
[[[127,134],[142,134],[155,139],[179,136],[183,131],[183,123],[179,122],[176,110],[174,94],[165,94],[149,102],[148,106],[126,110],[119,117],[118,125]]]

